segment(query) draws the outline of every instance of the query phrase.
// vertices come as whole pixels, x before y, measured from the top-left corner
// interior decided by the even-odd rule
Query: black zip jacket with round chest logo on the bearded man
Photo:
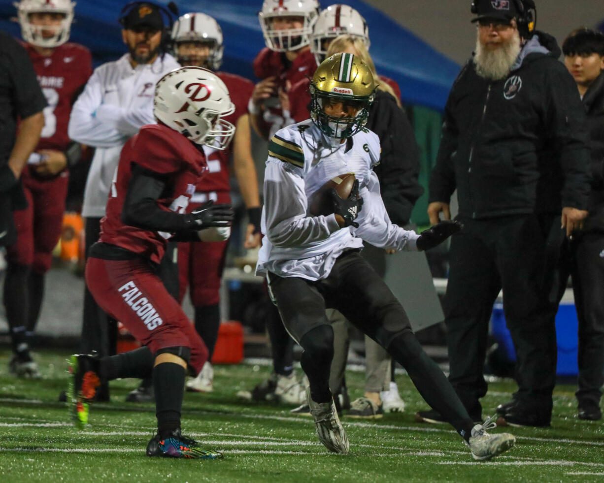
[[[429,201],[457,188],[463,217],[560,213],[588,206],[585,113],[556,40],[537,32],[506,78],[489,82],[473,60],[455,80]]]

